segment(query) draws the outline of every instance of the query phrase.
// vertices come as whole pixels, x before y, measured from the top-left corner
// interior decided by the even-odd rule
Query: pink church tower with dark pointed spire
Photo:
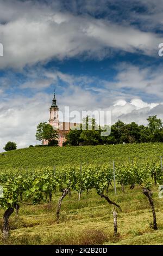
[[[55,129],[58,129],[58,127],[59,127],[59,117],[58,117],[59,108],[57,106],[57,100],[55,99],[55,92],[54,92],[53,103],[49,110],[50,110],[49,124],[51,124],[51,126],[53,126]]]

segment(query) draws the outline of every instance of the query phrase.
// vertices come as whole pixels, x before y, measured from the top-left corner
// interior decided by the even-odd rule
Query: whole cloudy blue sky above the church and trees
[[[163,120],[163,0],[0,0],[0,152],[60,110]]]

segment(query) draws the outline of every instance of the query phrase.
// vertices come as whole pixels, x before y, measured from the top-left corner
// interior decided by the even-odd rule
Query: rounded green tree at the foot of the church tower
[[[46,140],[51,141],[57,138],[58,138],[58,133],[56,130],[53,129],[51,124],[43,122],[37,125],[36,140],[42,141],[42,145],[43,145],[43,142],[45,142]]]

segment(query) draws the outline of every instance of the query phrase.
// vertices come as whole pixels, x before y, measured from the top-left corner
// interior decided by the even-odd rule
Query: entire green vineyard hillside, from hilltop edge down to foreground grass
[[[162,155],[162,144],[1,154],[1,243],[160,244]]]

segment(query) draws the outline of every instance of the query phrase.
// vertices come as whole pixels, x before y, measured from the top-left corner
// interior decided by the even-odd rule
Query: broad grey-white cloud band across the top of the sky
[[[17,11],[12,8],[18,7]],[[16,8],[14,8],[16,9]],[[137,52],[158,56],[161,35],[143,32],[132,26],[74,15],[65,10],[43,5],[41,2],[13,1],[1,3],[0,38],[4,57],[0,68],[23,68],[51,58],[70,58],[86,53],[88,57],[104,58],[118,51]]]

